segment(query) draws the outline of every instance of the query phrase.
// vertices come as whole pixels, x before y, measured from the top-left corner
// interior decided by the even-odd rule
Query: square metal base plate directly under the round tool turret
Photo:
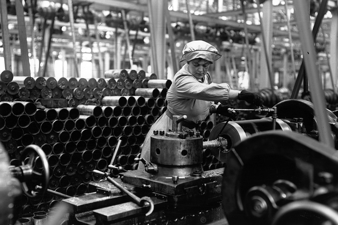
[[[198,188],[204,188],[206,192],[215,192],[215,195],[220,196],[220,182],[222,180],[223,168],[205,171],[201,176],[186,176],[184,179],[178,179],[177,183],[174,183],[172,179],[166,179],[165,176],[156,176],[145,172],[144,170],[133,170],[125,172],[123,174],[123,182],[126,184],[142,187],[142,185],[150,185],[147,190],[158,192],[164,195],[177,196],[183,195],[181,199],[173,199],[173,201],[179,201],[185,197],[198,196]],[[218,186],[219,185],[219,186]],[[204,187],[202,187],[204,186]],[[217,188],[217,187],[218,188]],[[215,188],[216,187],[216,188]],[[194,189],[189,195],[187,195],[187,189]],[[216,190],[217,189],[217,190]],[[207,191],[208,190],[208,191]],[[207,195],[201,195],[205,197]],[[194,201],[196,199],[191,199]]]

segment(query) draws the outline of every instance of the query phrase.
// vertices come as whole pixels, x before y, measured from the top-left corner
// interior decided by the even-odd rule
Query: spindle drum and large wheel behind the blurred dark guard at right
[[[282,131],[294,131],[305,136],[312,137],[316,140],[318,137],[318,124],[314,115],[314,106],[311,102],[302,99],[289,99],[276,104],[276,112],[264,112],[259,109],[232,109],[237,112],[257,112],[265,113],[261,119],[227,121],[218,123],[210,133],[209,140],[223,137],[227,140],[228,149],[244,141],[253,134],[274,130],[271,121],[275,119],[275,129]],[[273,107],[273,108],[274,108]],[[273,114],[276,113],[276,116]],[[326,109],[326,114],[331,127],[331,135],[334,139],[335,148],[338,149],[338,122],[337,116],[330,110]],[[277,118],[274,118],[277,117]],[[224,127],[224,124],[226,126]],[[224,127],[224,128],[223,128]],[[211,149],[214,156],[221,162],[226,162],[228,152],[218,152],[217,148]]]

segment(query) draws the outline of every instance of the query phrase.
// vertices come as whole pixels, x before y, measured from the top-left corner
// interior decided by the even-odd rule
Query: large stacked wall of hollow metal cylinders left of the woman
[[[128,76],[131,74],[129,72]],[[119,74],[122,74],[121,71]],[[113,83],[116,86],[112,89],[113,86],[108,87],[110,94],[99,95],[99,105],[96,103],[85,105],[88,104],[87,101],[77,99],[76,102],[72,99],[77,91],[88,88],[82,88],[84,86],[80,88],[79,85],[87,82],[91,87],[92,83],[99,86],[102,79],[84,79],[86,81],[82,78],[59,79],[55,88],[49,88],[52,91],[51,99],[61,97],[67,99],[68,103],[72,101],[69,105],[71,107],[68,108],[45,108],[34,104],[39,98],[50,96],[44,94],[49,92],[49,89],[44,92],[45,87],[37,86],[41,84],[37,81],[48,83],[49,78],[9,76],[7,80],[2,79],[0,89],[2,88],[4,92],[0,94],[0,141],[10,156],[10,164],[17,166],[22,163],[19,158],[25,146],[29,144],[40,146],[46,153],[51,171],[48,188],[69,196],[85,194],[89,182],[102,179],[92,171],[94,169],[106,171],[119,139],[122,144],[114,165],[122,166],[126,170],[137,169],[138,164],[134,159],[140,157],[141,146],[150,126],[166,111],[165,97],[171,85],[170,80],[154,78],[156,78],[154,74],[149,76],[146,74],[142,79],[144,86],[135,88],[133,95],[122,95],[130,94],[122,90],[123,88],[119,89],[121,92],[115,90],[120,78],[103,79],[105,85]],[[22,93],[26,93],[27,98],[23,98],[22,94],[19,95],[20,92],[8,92],[12,90],[9,88],[12,86],[16,87],[14,89],[25,90]],[[74,89],[69,89],[70,87]],[[56,96],[55,93],[60,90],[63,90],[60,92],[61,96]],[[31,95],[35,92],[39,94]],[[102,91],[106,92],[108,91]],[[116,96],[115,93],[121,95]],[[90,99],[94,94],[88,96]],[[40,160],[34,162],[34,169],[38,171],[42,169]],[[117,171],[113,170],[112,173],[113,176],[118,176]],[[23,213],[46,211],[60,200],[49,194],[40,200],[27,200],[22,208]]]

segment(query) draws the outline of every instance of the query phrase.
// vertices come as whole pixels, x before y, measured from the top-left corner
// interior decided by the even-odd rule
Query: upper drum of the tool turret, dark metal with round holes
[[[152,163],[174,166],[202,163],[202,137],[181,139],[153,135],[150,143],[150,161]]]

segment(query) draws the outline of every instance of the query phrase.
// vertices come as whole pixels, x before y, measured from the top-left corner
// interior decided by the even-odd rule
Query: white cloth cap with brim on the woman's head
[[[218,54],[217,49],[203,40],[190,41],[184,46],[182,51],[183,56],[180,62],[187,60],[202,58],[213,62],[219,59],[222,55]]]

